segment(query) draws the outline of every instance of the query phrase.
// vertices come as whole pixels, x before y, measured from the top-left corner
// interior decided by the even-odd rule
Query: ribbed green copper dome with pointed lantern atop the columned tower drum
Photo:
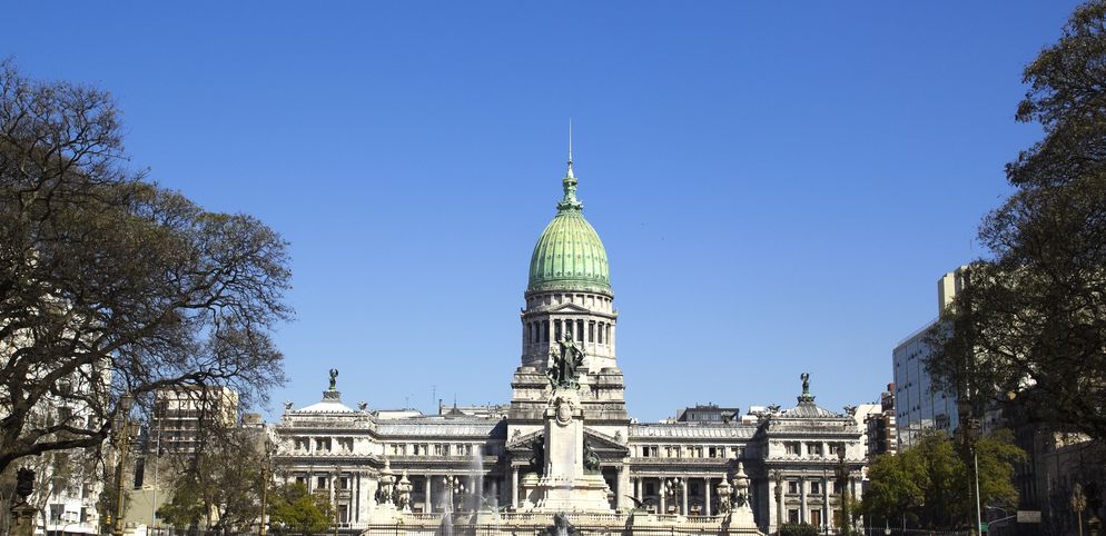
[[[583,204],[576,199],[571,156],[562,185],[564,198],[556,205],[556,216],[537,238],[530,258],[526,291],[587,290],[611,295],[606,250],[581,212]]]

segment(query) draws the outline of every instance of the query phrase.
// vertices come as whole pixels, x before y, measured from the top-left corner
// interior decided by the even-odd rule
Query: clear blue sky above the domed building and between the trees
[[[172,6],[170,6],[172,3]],[[566,123],[642,420],[878,398],[1039,137],[1070,1],[14,2],[0,56],[113,91],[136,166],[292,242],[318,399],[510,398]],[[269,415],[273,415],[270,413]]]

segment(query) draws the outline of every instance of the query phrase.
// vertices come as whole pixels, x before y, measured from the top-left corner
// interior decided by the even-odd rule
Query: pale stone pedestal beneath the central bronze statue
[[[534,487],[533,509],[612,512],[603,476],[584,472],[584,411],[576,389],[557,389],[550,400],[544,415],[544,476]]]

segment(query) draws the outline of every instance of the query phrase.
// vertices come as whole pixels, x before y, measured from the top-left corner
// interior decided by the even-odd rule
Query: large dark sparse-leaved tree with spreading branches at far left
[[[286,244],[127,167],[101,90],[0,61],[0,472],[98,447],[131,394],[283,380]],[[243,404],[249,400],[244,399]],[[57,419],[36,408],[70,407]]]

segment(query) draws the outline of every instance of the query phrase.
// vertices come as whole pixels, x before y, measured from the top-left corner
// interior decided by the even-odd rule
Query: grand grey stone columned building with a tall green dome
[[[748,526],[727,525],[731,534],[771,534],[788,520],[839,526],[842,492],[861,493],[861,426],[849,411],[818,407],[807,375],[791,409],[700,406],[665,423],[630,418],[611,267],[576,196],[571,150],[561,183],[531,254],[510,404],[437,415],[354,409],[332,377],[322,403],[287,405],[274,429],[284,478],[327,496],[350,530],[402,523],[433,532],[481,510],[496,512],[496,526],[523,528],[562,512],[604,527],[645,515],[641,523],[672,534],[718,534],[735,512],[748,513]],[[575,492],[554,498],[559,486],[576,486],[589,502],[572,503]]]

